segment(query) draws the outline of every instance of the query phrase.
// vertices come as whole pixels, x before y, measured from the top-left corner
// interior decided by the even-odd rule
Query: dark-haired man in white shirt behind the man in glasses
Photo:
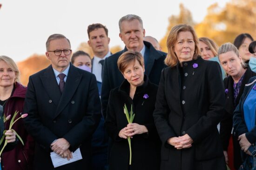
[[[94,52],[92,59],[92,73],[96,76],[99,93],[101,95],[102,69],[104,60],[111,55],[109,51],[108,29],[102,24],[88,26],[88,44]],[[104,119],[101,121],[92,138],[92,170],[107,169],[108,162],[108,137],[104,130]]]

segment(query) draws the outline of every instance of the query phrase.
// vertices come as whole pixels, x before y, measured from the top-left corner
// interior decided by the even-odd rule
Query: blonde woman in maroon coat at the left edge
[[[7,56],[0,56],[0,105],[3,107],[3,113],[11,119],[15,111],[20,117],[23,111],[23,104],[27,88],[22,86],[19,81],[20,72],[14,61]],[[10,121],[6,121],[5,129],[10,126]],[[20,119],[12,126],[24,141],[21,142],[11,151],[3,152],[1,155],[1,165],[5,170],[30,170],[33,164],[34,140],[28,135],[23,121]]]

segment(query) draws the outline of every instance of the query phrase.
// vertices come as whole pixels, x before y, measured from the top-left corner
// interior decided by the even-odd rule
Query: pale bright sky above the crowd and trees
[[[179,4],[201,22],[207,7],[230,0],[0,0],[0,55],[22,61],[34,53],[44,54],[51,34],[61,33],[71,41],[73,50],[88,41],[87,27],[101,23],[108,28],[110,47],[121,45],[119,19],[136,14],[143,20],[146,35],[163,38],[168,17],[179,14]]]

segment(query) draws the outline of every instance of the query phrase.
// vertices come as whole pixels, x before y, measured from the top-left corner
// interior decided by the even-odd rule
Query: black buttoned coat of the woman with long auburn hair
[[[182,65],[164,69],[158,87],[153,116],[162,140],[161,170],[225,170],[217,129],[224,111],[220,66],[201,57]],[[167,144],[185,134],[192,147],[177,150]]]

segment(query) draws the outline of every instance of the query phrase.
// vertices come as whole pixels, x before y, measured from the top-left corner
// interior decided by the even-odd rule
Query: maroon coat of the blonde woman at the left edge
[[[18,82],[15,82],[14,85],[15,89],[13,94],[6,102],[4,108],[5,116],[9,114],[13,116],[15,111],[23,113],[27,88]],[[20,114],[16,116],[16,119],[18,117],[20,117]],[[5,123],[6,129],[9,128],[9,126],[10,120]],[[21,119],[18,120],[12,128],[19,134],[24,142],[24,146],[19,141],[13,150],[4,152],[1,156],[1,164],[4,166],[4,170],[33,170],[34,139],[28,134]]]

